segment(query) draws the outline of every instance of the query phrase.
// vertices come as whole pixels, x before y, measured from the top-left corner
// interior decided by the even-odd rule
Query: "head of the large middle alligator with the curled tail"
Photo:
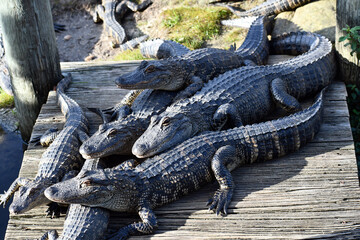
[[[138,158],[161,153],[192,137],[194,129],[183,113],[166,112],[152,116],[148,129],[134,143],[132,153]]]

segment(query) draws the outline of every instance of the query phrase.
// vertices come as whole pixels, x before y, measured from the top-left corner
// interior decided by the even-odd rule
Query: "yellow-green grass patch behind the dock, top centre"
[[[206,40],[220,35],[220,20],[230,14],[229,10],[218,7],[179,7],[162,12],[162,26],[169,32],[167,39],[197,49]]]

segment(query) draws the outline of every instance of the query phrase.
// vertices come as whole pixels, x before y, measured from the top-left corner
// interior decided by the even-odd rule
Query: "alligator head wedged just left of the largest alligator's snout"
[[[80,154],[85,159],[113,154],[130,155],[132,145],[145,130],[140,121],[140,118],[127,117],[101,124],[98,131],[81,145]]]

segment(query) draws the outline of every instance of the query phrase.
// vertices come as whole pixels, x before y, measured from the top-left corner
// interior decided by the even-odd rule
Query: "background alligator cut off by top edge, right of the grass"
[[[257,16],[276,15],[284,11],[293,10],[311,1],[312,0],[268,0],[247,11],[239,11],[223,3],[216,3],[216,5],[228,8],[240,17],[238,19],[222,20],[222,25],[247,28]]]

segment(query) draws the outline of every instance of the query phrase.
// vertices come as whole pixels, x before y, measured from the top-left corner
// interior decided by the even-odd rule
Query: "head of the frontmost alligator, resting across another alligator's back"
[[[127,172],[113,169],[81,170],[76,177],[48,187],[45,196],[59,203],[129,211],[136,204],[139,192],[135,180]]]

